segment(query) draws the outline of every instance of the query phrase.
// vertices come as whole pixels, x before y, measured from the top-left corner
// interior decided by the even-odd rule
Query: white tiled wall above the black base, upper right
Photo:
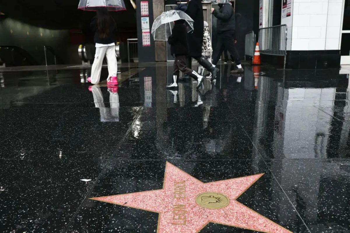
[[[292,16],[281,20],[292,33],[288,49],[337,50],[342,4],[343,0],[294,0]]]

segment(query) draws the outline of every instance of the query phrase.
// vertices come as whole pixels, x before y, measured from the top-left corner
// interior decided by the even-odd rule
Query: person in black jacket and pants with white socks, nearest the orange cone
[[[234,58],[238,69],[231,73],[244,72],[235,46],[236,20],[235,12],[227,0],[217,0],[219,10],[211,8],[211,13],[217,18],[218,41],[214,50],[213,64],[216,65],[226,48]]]

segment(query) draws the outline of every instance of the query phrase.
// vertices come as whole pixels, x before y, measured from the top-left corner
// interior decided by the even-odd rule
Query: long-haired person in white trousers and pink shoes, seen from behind
[[[114,34],[116,23],[109,15],[106,8],[97,9],[97,16],[91,22],[91,29],[94,31],[94,42],[96,46],[95,58],[91,68],[91,77],[87,80],[92,84],[100,82],[103,59],[106,56],[108,65],[107,84],[118,85],[117,79],[117,57]]]

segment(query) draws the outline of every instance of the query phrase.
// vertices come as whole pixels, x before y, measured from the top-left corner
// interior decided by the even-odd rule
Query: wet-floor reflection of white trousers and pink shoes
[[[106,108],[103,95],[100,87],[91,86],[91,92],[95,107],[100,109],[101,122],[119,122],[119,95],[118,87],[110,86],[108,92],[110,93],[110,108]]]

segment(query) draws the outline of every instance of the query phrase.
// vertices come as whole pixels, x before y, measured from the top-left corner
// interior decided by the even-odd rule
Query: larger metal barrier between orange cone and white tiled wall
[[[260,53],[284,56],[284,68],[287,56],[287,29],[286,24],[259,29]]]

